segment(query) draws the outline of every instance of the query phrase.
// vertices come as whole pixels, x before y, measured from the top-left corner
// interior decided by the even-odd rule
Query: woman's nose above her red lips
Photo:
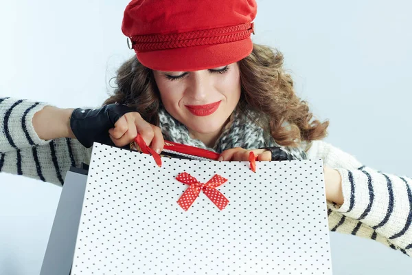
[[[187,87],[187,96],[194,102],[207,103],[207,96],[210,95],[213,84],[207,74],[207,70],[192,72],[190,85]]]

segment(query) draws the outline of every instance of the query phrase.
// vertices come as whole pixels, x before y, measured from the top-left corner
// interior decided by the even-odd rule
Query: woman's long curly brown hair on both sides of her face
[[[308,102],[295,94],[293,80],[283,68],[284,56],[266,45],[253,44],[249,56],[238,62],[241,96],[237,111],[259,113],[260,126],[269,131],[277,144],[297,147],[301,142],[321,140],[328,133],[329,121],[313,119]],[[161,105],[152,69],[133,56],[117,70],[115,91],[104,104],[128,104],[142,118],[159,126]],[[263,118],[263,120],[262,120]],[[308,148],[306,148],[308,150]]]

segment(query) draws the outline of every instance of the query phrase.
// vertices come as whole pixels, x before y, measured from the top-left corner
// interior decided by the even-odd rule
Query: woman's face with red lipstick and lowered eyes
[[[166,111],[194,135],[220,132],[240,98],[238,63],[154,75]]]

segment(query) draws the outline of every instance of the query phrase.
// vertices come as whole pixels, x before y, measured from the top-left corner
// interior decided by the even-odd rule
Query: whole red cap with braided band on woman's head
[[[140,63],[196,71],[240,61],[253,50],[255,0],[133,0],[122,32]]]

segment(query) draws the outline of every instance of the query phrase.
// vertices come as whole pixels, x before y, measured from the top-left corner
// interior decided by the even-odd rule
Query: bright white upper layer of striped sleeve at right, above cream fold
[[[412,254],[412,179],[382,173],[331,144],[315,143],[310,151],[319,151],[324,165],[341,175],[344,202],[332,206],[332,210],[369,225],[375,234]],[[314,155],[309,152],[310,157]]]

